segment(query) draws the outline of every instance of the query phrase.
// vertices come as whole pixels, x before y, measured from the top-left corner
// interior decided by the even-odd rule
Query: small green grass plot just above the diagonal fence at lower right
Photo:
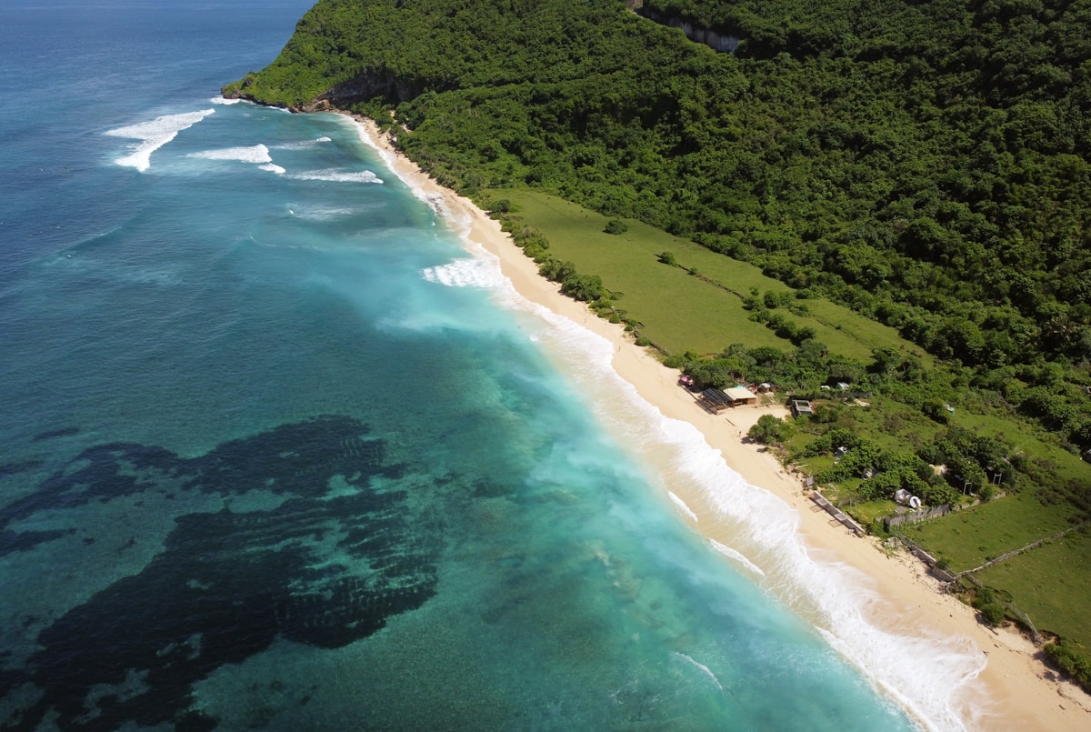
[[[1068,519],[1075,513],[1068,503],[1044,504],[1035,495],[1019,493],[940,520],[909,526],[904,533],[950,562],[951,569],[961,572],[1069,528]],[[1004,585],[995,587],[1008,589]],[[1010,591],[1016,595],[1014,589]],[[1017,604],[1022,607],[1023,598],[1018,597]]]

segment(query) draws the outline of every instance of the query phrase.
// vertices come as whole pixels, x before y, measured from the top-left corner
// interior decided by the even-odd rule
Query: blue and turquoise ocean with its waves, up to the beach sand
[[[351,120],[218,97],[308,8],[0,8],[0,727],[962,728]]]

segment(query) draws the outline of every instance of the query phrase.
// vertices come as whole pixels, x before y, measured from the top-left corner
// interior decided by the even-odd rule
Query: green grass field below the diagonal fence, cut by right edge
[[[990,587],[1011,593],[1017,608],[1039,631],[1066,638],[1091,638],[1091,532],[1072,531],[976,575]]]

